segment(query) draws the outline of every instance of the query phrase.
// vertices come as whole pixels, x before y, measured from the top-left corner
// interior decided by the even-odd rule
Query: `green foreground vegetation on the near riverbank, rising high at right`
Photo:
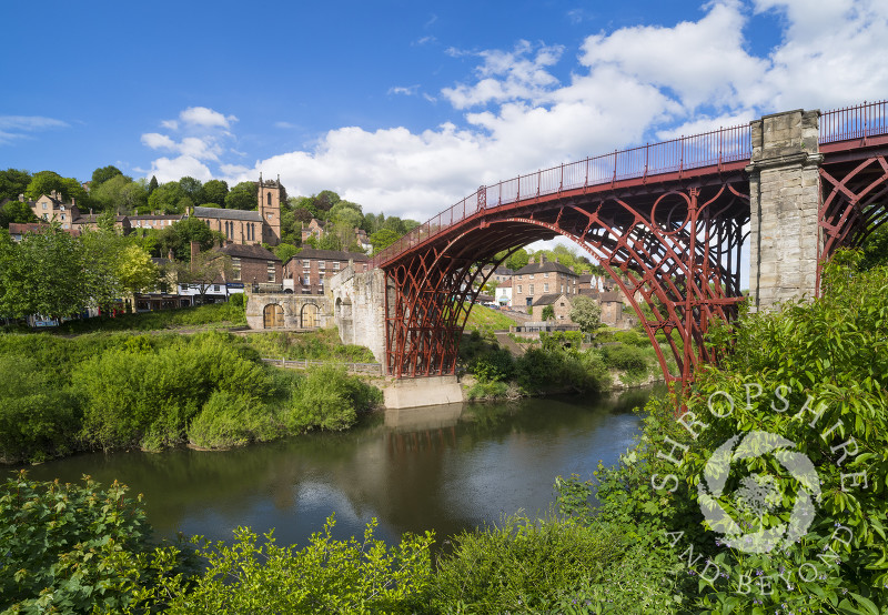
[[[618,466],[599,467],[592,481],[559,477],[557,516],[512,517],[451,537],[452,551],[436,562],[430,535],[389,546],[373,537],[372,525],[363,543],[324,531],[302,548],[278,547],[249,530],[239,531],[234,546],[196,553],[167,546],[131,556],[127,545],[102,587],[112,596],[132,589],[127,608],[173,613],[258,605],[306,613],[884,613],[888,269],[830,266],[824,284],[823,299],[714,332],[712,343],[734,349],[720,369],[702,371],[680,400],[652,400],[643,435]],[[488,356],[484,369],[501,366]],[[763,442],[787,451],[750,444],[747,453],[756,454],[725,453],[758,434],[785,438]],[[816,485],[786,466],[801,457]],[[714,458],[729,458],[729,473],[713,475]],[[716,532],[719,517],[707,521],[710,508],[700,507],[724,475],[725,495],[708,502],[737,520],[733,538]],[[42,488],[22,480],[4,486],[0,502]],[[815,507],[801,527],[790,518],[806,501]],[[11,518],[0,514],[0,523]],[[24,523],[39,533],[53,518]],[[78,541],[104,535],[87,518],[78,525],[85,533]],[[785,537],[787,528],[800,532],[790,536],[797,540],[765,548],[767,532]],[[19,535],[0,531],[0,551]],[[180,575],[192,554],[205,567]],[[75,587],[68,583],[77,557],[59,556],[57,575],[44,572],[56,562],[50,557],[14,559],[23,572],[13,576],[7,605],[60,604],[53,601]],[[92,561],[83,562],[91,571]],[[41,586],[49,587],[42,595]],[[91,595],[108,608],[104,595]]]

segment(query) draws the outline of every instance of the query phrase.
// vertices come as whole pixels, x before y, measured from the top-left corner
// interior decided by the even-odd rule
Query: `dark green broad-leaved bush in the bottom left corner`
[[[36,483],[0,486],[0,608],[11,613],[121,612],[147,581],[150,527],[127,487]]]

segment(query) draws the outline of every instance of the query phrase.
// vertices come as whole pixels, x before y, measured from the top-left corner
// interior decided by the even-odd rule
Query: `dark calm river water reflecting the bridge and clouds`
[[[223,452],[85,454],[33,466],[37,480],[114,478],[144,494],[158,537],[230,540],[239,525],[304,545],[336,514],[333,535],[434,530],[438,543],[519,510],[545,514],[557,475],[592,476],[639,432],[649,391],[609,399],[542,397],[386,411],[339,434]]]

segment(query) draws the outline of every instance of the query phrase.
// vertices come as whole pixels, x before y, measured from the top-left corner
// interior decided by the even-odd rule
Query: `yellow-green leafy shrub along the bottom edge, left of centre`
[[[432,577],[433,534],[404,535],[396,546],[374,537],[333,538],[335,520],[312,535],[307,546],[278,546],[271,533],[239,527],[235,542],[204,545],[206,572],[188,579],[168,574],[159,587],[139,592],[141,608],[165,613],[416,613]]]

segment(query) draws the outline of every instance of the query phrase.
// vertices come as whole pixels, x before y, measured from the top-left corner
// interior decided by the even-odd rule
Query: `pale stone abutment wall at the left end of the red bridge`
[[[330,279],[333,322],[345,344],[366,346],[385,370],[385,273],[345,268]]]

